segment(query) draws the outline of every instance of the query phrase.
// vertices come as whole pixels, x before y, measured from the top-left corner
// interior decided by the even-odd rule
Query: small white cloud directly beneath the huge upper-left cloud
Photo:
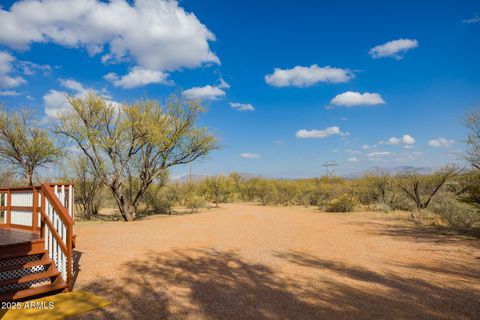
[[[124,89],[132,89],[140,86],[145,86],[152,83],[171,84],[168,74],[162,71],[154,71],[134,67],[126,75],[119,77],[116,73],[107,73],[105,80],[110,81],[114,86]]]

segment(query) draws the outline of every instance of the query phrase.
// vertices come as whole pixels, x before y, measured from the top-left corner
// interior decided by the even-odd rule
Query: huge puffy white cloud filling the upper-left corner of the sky
[[[0,43],[14,49],[51,42],[147,70],[220,63],[209,46],[215,36],[173,0],[23,0],[0,9],[0,30]]]

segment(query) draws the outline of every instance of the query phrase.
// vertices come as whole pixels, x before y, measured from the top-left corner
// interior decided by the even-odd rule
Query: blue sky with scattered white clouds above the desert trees
[[[62,3],[2,1],[0,101],[51,123],[65,93],[201,98],[224,147],[198,174],[438,167],[480,104],[479,1]]]

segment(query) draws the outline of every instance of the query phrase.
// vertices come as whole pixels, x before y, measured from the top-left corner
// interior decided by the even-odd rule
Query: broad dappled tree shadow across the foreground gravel
[[[302,252],[278,253],[295,277],[250,263],[232,251],[197,249],[131,261],[121,279],[80,289],[112,306],[84,317],[104,319],[474,319],[478,291],[380,274]],[[300,269],[303,269],[300,268]],[[376,285],[381,290],[366,290]],[[388,293],[388,294],[386,294]]]

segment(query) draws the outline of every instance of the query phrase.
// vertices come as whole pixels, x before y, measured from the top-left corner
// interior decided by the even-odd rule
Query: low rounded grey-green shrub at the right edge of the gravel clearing
[[[438,197],[432,205],[432,211],[451,227],[471,227],[480,222],[478,210],[449,196]]]

